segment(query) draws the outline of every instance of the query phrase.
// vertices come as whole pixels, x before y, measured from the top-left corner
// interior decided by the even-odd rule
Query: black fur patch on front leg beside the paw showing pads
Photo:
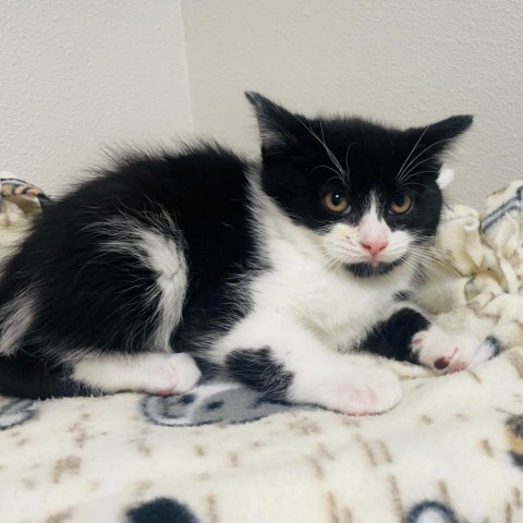
[[[392,360],[418,363],[410,350],[412,338],[430,327],[430,321],[417,311],[405,307],[397,311],[387,321],[379,323],[362,343],[374,354]]]

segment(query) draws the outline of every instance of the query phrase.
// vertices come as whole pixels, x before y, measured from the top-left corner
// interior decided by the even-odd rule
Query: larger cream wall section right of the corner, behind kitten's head
[[[476,115],[454,199],[523,178],[520,0],[182,0],[197,132],[255,150],[244,89],[399,124]]]

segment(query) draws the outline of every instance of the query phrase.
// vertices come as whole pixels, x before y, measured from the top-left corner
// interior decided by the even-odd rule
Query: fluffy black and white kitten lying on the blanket
[[[198,361],[363,414],[401,387],[357,350],[441,372],[492,355],[405,297],[439,221],[441,157],[472,118],[400,131],[247,98],[260,166],[208,143],[135,154],[48,207],[0,283],[0,392],[182,393]]]

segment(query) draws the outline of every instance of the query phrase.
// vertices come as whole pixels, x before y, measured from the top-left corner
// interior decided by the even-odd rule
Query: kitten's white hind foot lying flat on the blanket
[[[181,394],[200,377],[194,360],[185,353],[86,356],[74,364],[72,379],[102,392],[141,391]]]

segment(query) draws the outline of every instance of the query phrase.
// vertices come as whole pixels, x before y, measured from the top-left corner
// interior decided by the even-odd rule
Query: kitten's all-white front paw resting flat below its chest
[[[402,390],[398,376],[386,368],[349,364],[324,376],[309,396],[309,402],[326,409],[366,415],[379,414],[396,406],[401,400]]]

